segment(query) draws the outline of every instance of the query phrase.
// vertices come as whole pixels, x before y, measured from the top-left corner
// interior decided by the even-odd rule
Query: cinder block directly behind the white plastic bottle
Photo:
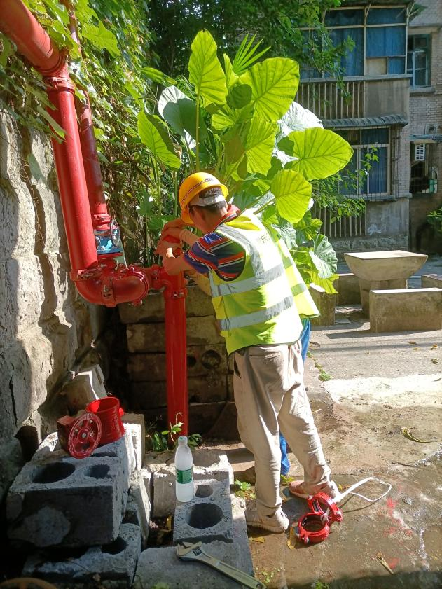
[[[153,515],[156,518],[174,513],[175,497],[175,465],[172,452],[162,455],[147,454],[145,468],[153,475]],[[233,468],[227,456],[216,450],[195,450],[193,452],[193,478],[202,480],[228,480],[233,485]]]

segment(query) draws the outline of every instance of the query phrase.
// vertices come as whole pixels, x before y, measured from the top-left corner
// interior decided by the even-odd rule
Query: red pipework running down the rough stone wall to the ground
[[[90,106],[81,112],[81,139],[74,104],[74,85],[60,52],[21,0],[0,0],[0,31],[46,78],[54,109],[51,116],[65,131],[60,143],[53,139],[60,200],[71,259],[71,278],[90,303],[114,307],[118,303],[141,303],[153,282],[164,288],[167,362],[167,417],[183,422],[188,432],[186,363],[186,289],[184,275],[169,276],[164,268],[116,265],[113,254],[97,258],[92,219],[96,228],[109,227],[102,192]],[[83,153],[82,153],[83,148]],[[83,158],[85,165],[83,165]],[[85,173],[86,169],[86,173]],[[92,219],[91,219],[92,214]]]

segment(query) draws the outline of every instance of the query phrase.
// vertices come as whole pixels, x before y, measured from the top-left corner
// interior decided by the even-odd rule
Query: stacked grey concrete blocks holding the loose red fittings
[[[122,438],[84,459],[67,455],[50,434],[15,478],[6,498],[8,535],[39,548],[24,576],[65,589],[132,585],[149,534],[151,473],[141,469],[144,422],[125,419]]]

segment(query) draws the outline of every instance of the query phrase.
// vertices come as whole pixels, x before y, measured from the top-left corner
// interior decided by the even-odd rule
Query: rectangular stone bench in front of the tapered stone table
[[[441,329],[442,289],[370,291],[370,328],[375,333]]]

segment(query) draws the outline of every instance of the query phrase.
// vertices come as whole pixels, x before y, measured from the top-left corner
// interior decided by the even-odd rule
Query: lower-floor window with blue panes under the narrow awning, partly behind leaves
[[[340,194],[359,195],[371,199],[373,195],[387,195],[389,192],[389,128],[351,129],[336,131],[346,139],[354,153],[340,176],[343,183]],[[364,171],[364,162],[371,155],[370,169]],[[356,177],[355,174],[360,172]],[[347,172],[347,173],[346,173]]]

